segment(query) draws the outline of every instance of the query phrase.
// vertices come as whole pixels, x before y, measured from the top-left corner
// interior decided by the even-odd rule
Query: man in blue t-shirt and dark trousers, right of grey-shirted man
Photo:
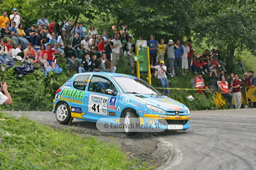
[[[175,54],[174,69],[176,74],[178,75],[178,74],[181,74],[181,72],[178,69],[181,69],[182,67],[181,57],[183,57],[184,50],[181,45],[181,40],[177,40],[176,45],[178,45],[178,48],[174,50],[174,54]]]

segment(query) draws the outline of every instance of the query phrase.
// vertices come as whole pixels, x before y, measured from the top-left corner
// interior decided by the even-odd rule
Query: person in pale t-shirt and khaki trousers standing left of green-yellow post
[[[120,40],[118,40],[117,34],[114,34],[114,39],[111,41],[113,42],[113,45],[114,45],[114,46],[112,46],[113,67],[117,67],[117,62],[119,60],[119,56],[121,56],[122,43]]]

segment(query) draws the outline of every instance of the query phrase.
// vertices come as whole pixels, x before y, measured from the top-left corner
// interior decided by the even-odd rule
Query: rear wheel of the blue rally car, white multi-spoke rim
[[[55,118],[58,123],[68,125],[72,122],[70,108],[67,103],[60,101],[55,109]]]

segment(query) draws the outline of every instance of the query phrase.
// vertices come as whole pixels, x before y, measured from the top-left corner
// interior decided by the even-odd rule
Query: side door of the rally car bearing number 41
[[[97,121],[100,118],[116,116],[117,96],[106,94],[106,90],[111,89],[118,94],[118,91],[112,81],[107,77],[99,75],[92,76],[88,88],[88,115],[92,120]]]

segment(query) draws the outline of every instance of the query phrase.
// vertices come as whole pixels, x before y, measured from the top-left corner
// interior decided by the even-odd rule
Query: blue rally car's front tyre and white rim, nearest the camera
[[[137,114],[134,111],[128,110],[122,114],[122,123],[124,123],[124,132],[126,132],[127,136],[135,136],[137,134],[136,128],[132,125],[136,126],[138,123]]]

